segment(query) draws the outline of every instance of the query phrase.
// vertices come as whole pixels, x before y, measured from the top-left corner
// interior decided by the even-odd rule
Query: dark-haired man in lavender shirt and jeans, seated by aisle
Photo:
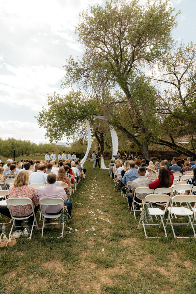
[[[72,203],[67,200],[67,195],[63,187],[55,187],[56,175],[55,173],[49,173],[46,178],[47,184],[46,186],[39,187],[37,189],[37,196],[40,199],[48,199],[48,198],[62,198],[64,200],[64,205],[67,206],[68,213],[70,216],[73,216],[71,213]],[[42,212],[48,214],[58,214],[62,209],[62,205],[53,205],[46,206],[42,205]]]

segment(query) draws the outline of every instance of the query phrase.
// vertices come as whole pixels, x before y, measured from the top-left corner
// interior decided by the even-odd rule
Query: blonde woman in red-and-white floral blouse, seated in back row
[[[8,198],[30,198],[33,202],[34,213],[36,214],[39,208],[38,198],[36,196],[36,191],[34,187],[28,186],[29,173],[27,171],[22,171],[17,173],[14,180],[14,186],[9,188]],[[10,211],[13,216],[24,217],[32,214],[32,208],[30,205],[25,206],[11,206]],[[7,206],[0,206],[0,213],[11,218],[9,209]],[[34,216],[28,219],[28,225],[32,225]],[[15,220],[16,227],[21,226],[22,220]]]

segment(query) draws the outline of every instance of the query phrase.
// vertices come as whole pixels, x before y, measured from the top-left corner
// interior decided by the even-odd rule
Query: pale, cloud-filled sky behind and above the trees
[[[196,43],[196,0],[170,2],[181,11],[173,38]],[[69,91],[60,88],[63,65],[70,55],[82,54],[74,26],[89,3],[104,5],[105,0],[0,1],[1,138],[49,142],[34,116],[47,106],[47,94]]]

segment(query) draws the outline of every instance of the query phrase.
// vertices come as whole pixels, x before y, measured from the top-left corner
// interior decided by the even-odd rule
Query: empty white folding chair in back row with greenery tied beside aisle
[[[153,194],[153,195],[147,195],[145,197],[145,202],[147,203],[165,203],[165,210],[163,211],[162,209],[160,208],[156,208],[156,207],[150,207],[148,208],[149,209],[149,213],[150,213],[150,216],[160,216],[160,219],[161,219],[161,222],[160,223],[144,223],[142,221],[142,224],[143,224],[143,228],[144,228],[144,233],[145,233],[145,236],[146,238],[150,238],[150,239],[157,239],[157,238],[160,238],[160,237],[148,237],[147,234],[146,234],[146,230],[145,230],[145,225],[159,225],[159,228],[161,226],[161,223],[163,225],[163,229],[164,229],[164,232],[165,232],[165,237],[167,238],[167,232],[166,232],[166,229],[165,229],[165,225],[163,223],[163,218],[165,216],[165,212],[167,211],[167,206],[169,204],[169,201],[170,201],[170,196],[169,195],[166,195],[166,194]],[[140,208],[140,210],[142,211],[143,208]],[[140,223],[141,223],[141,217],[140,217],[140,221],[139,221],[139,224],[138,224],[138,229],[140,227]]]

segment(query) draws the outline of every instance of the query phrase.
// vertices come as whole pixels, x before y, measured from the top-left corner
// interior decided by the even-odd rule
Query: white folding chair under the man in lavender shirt
[[[55,206],[55,205],[59,205],[62,204],[62,207],[64,206],[64,200],[62,198],[48,198],[48,199],[40,199],[39,200],[39,205],[40,208],[42,205],[46,205],[46,206]],[[47,214],[47,213],[43,213],[42,212],[42,208],[41,208],[41,214],[43,217],[43,225],[42,225],[42,231],[41,231],[41,236],[43,237],[43,228],[45,227],[45,225],[51,225],[51,223],[46,223],[45,224],[45,218],[59,218],[61,216],[61,212],[58,214]],[[52,223],[52,225],[58,225],[58,223]],[[63,231],[64,231],[64,222],[63,222],[63,228],[62,228],[62,234],[60,237],[57,238],[62,238],[63,237]],[[51,237],[53,238],[53,237]]]

